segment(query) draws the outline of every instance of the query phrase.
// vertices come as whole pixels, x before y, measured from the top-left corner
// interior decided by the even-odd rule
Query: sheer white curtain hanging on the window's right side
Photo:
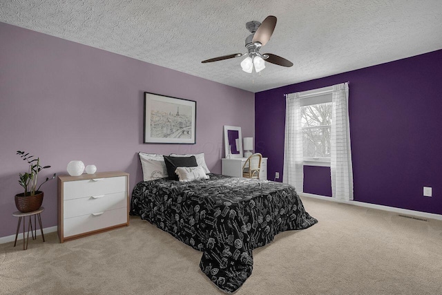
[[[332,171],[332,196],[337,200],[353,200],[348,92],[348,83],[333,86],[330,170]]]

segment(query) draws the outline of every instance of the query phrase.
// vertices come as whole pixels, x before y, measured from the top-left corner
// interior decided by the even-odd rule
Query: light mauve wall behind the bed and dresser
[[[148,53],[146,53],[148,54]],[[143,144],[144,91],[197,102],[196,144]],[[26,162],[37,155],[51,173],[70,160],[142,180],[138,151],[198,153],[221,173],[223,126],[254,137],[253,93],[115,53],[0,23],[0,237],[15,234],[14,196]],[[213,112],[216,110],[216,112]],[[44,227],[57,225],[57,181],[45,184]]]

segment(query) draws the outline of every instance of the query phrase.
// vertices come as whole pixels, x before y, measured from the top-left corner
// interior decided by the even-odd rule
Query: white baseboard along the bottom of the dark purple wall
[[[320,199],[320,200],[327,200],[327,201],[331,201],[331,202],[338,202],[338,203],[344,203],[344,204],[352,204],[352,205],[361,206],[361,207],[379,209],[379,210],[390,211],[390,212],[394,212],[394,213],[400,213],[400,214],[406,214],[406,215],[412,215],[412,216],[419,216],[419,217],[423,217],[423,218],[432,218],[432,219],[436,219],[436,220],[442,220],[442,215],[440,215],[440,214],[414,211],[414,210],[408,210],[408,209],[401,209],[401,208],[396,208],[396,207],[388,207],[388,206],[383,206],[383,205],[378,205],[378,204],[358,202],[358,201],[354,201],[354,200],[349,200],[349,201],[336,200],[335,198],[332,198],[332,197],[314,195],[313,193],[299,193],[299,196],[308,197],[308,198],[316,198],[316,199]]]

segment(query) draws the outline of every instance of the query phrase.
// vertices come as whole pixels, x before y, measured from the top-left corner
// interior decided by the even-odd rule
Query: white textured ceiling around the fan
[[[294,63],[241,70],[247,21],[278,18],[261,53]],[[442,48],[441,0],[2,0],[0,21],[251,92]]]

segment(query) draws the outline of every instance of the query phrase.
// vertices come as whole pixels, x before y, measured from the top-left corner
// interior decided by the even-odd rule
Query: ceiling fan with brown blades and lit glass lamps
[[[261,46],[264,46],[270,40],[273,30],[275,30],[275,26],[276,17],[273,17],[273,15],[266,17],[262,23],[259,21],[249,21],[246,23],[247,30],[251,32],[251,35],[246,38],[247,53],[235,53],[233,55],[214,57],[212,59],[201,61],[202,64],[247,55],[247,57],[241,61],[242,70],[247,73],[252,73],[253,66],[255,66],[256,73],[259,73],[265,68],[265,61],[268,61],[271,64],[277,64],[278,66],[286,66],[287,68],[293,66],[291,61],[278,55],[273,55],[271,53],[265,53],[262,55],[260,53]]]

